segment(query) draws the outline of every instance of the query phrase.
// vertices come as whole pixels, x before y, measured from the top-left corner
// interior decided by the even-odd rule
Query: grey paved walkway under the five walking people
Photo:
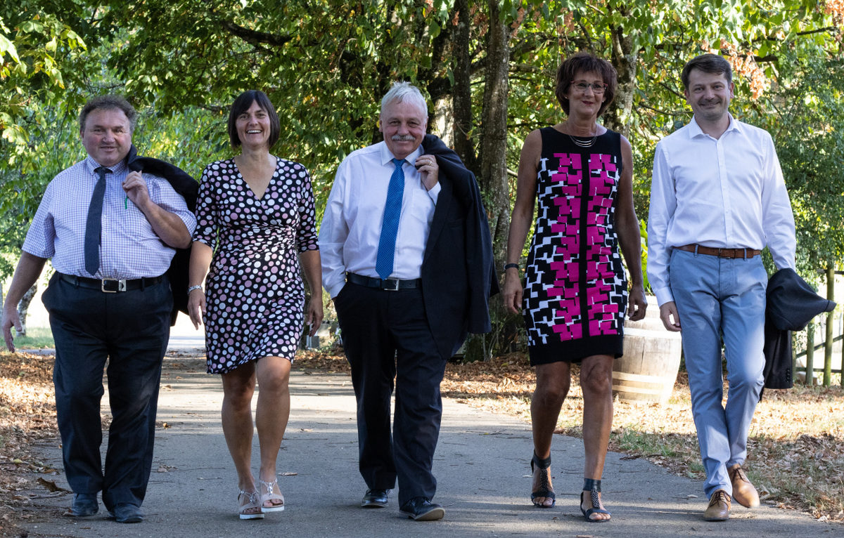
[[[178,335],[175,335],[178,336]],[[178,342],[178,341],[175,341]],[[171,353],[176,355],[176,353]],[[706,523],[701,482],[672,476],[645,460],[611,453],[603,495],[613,520],[588,524],[577,508],[582,485],[580,439],[555,437],[555,508],[529,503],[530,428],[511,417],[444,402],[434,471],[436,502],[445,519],[414,522],[388,508],[358,507],[365,485],[357,471],[354,395],[348,375],[296,371],[290,381],[287,435],[279,455],[284,512],[241,521],[235,515],[236,477],[220,429],[219,378],[197,359],[167,358],[161,383],[153,473],[138,525],[119,525],[104,510],[89,519],[61,517],[71,497],[47,495],[25,526],[30,537],[115,536],[215,538],[224,536],[821,536],[844,537],[844,525],[766,506],[733,508],[733,518]],[[253,461],[257,462],[257,440]],[[57,444],[41,447],[61,468]],[[67,487],[63,476],[45,476]]]

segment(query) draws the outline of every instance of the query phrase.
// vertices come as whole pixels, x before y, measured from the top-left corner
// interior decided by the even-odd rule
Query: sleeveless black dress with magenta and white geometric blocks
[[[615,231],[621,137],[608,130],[581,148],[553,127],[540,132],[522,310],[531,364],[619,358],[627,304]]]

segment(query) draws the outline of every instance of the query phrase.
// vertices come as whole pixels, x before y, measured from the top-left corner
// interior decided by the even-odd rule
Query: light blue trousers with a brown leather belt
[[[750,421],[764,382],[767,273],[760,256],[729,259],[674,249],[669,280],[682,327],[706,497],[717,489],[732,496],[727,469],[747,456]],[[722,339],[729,381],[726,406]]]

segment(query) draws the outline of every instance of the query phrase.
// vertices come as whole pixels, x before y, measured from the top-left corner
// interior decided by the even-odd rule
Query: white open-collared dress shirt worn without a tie
[[[668,261],[676,246],[767,246],[778,268],[794,268],[794,215],[771,135],[729,117],[717,139],[692,118],[657,143],[647,277],[660,305],[674,300]]]

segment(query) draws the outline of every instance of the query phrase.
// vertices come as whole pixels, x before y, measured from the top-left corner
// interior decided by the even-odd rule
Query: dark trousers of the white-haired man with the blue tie
[[[398,476],[399,504],[414,497],[433,498],[436,478],[431,467],[440,436],[446,358],[436,351],[421,290],[392,292],[347,282],[334,305],[352,367],[360,474],[366,486],[392,489]]]

